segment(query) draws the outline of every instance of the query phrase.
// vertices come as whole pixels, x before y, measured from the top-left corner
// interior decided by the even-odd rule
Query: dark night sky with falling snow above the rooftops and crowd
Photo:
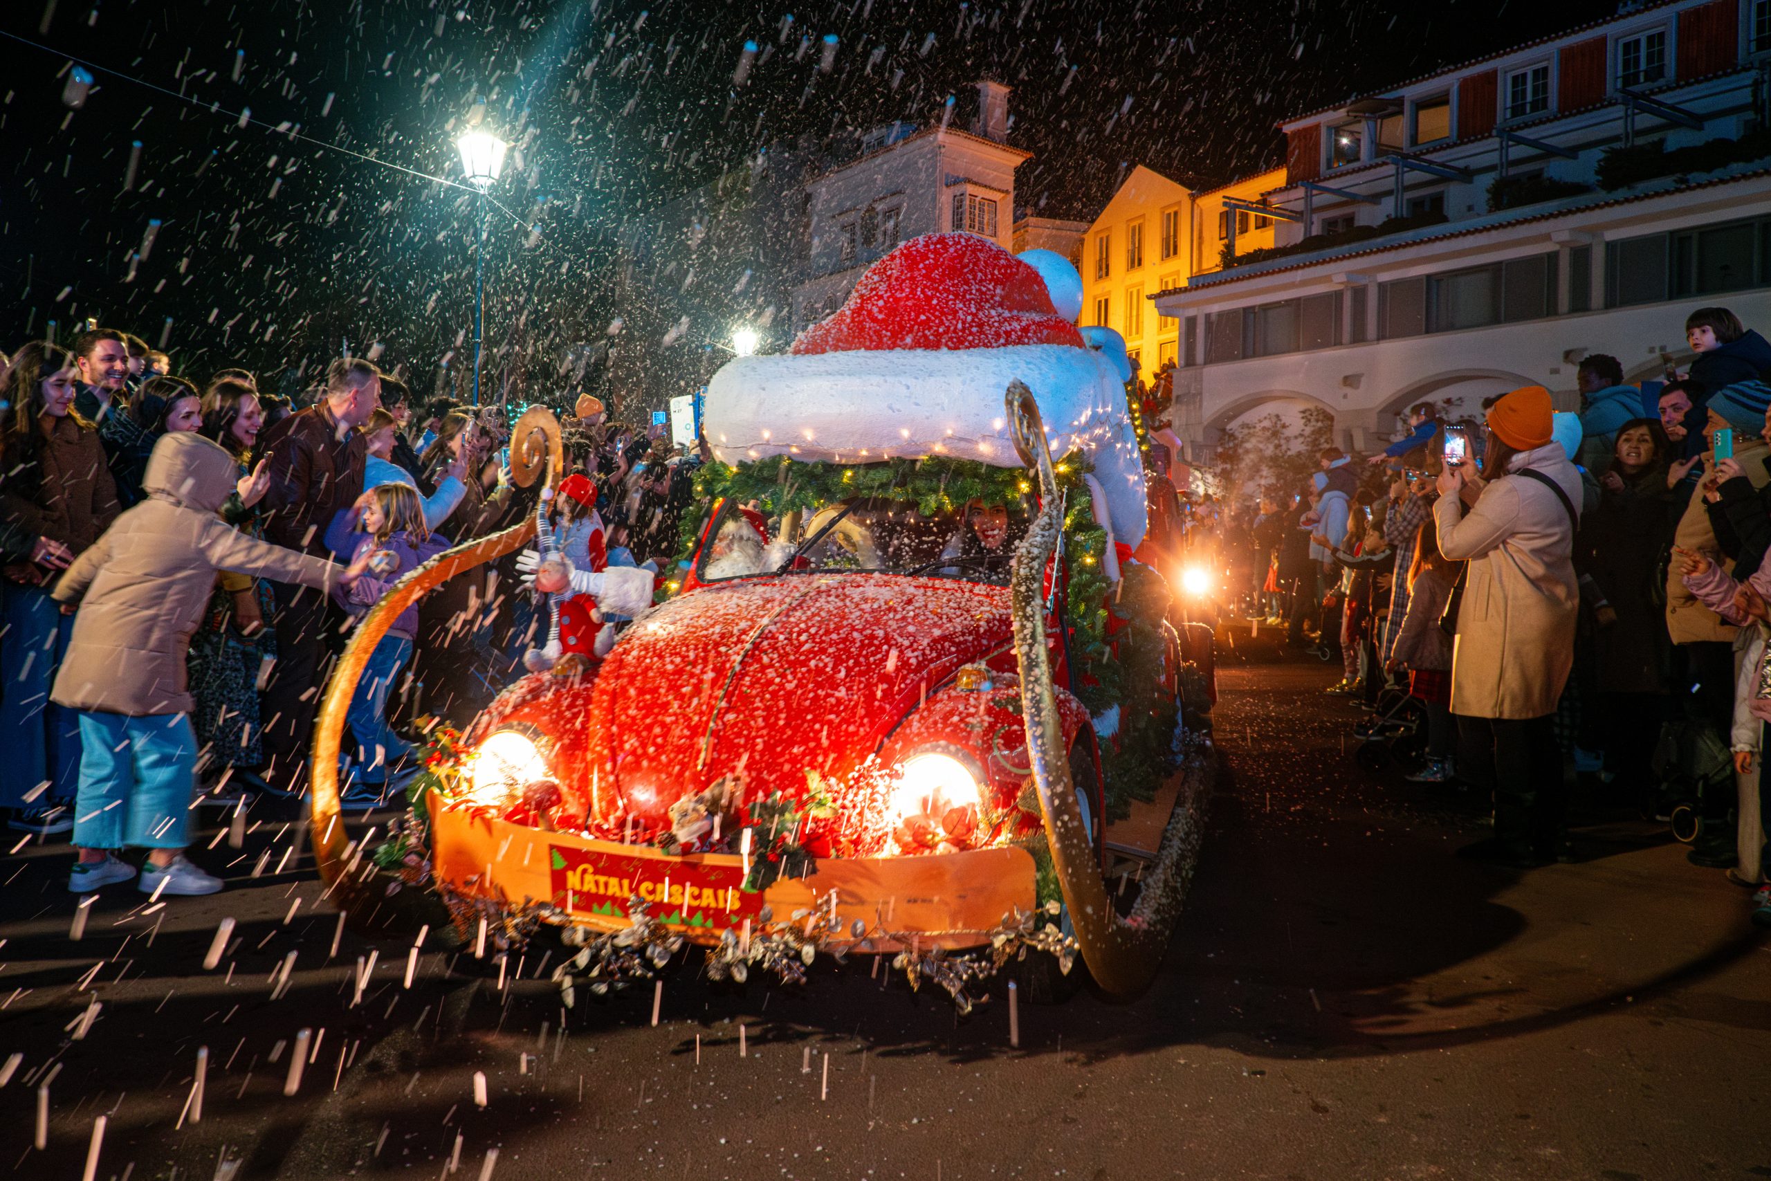
[[[531,375],[632,319],[623,220],[841,126],[939,119],[1015,87],[1024,212],[1091,218],[1133,163],[1217,184],[1282,158],[1275,120],[1610,14],[1615,5],[1199,0],[14,0],[0,39],[0,347],[96,315],[197,379],[275,386],[383,342],[420,390],[471,347],[476,97],[517,143],[489,237],[487,347]],[[792,9],[792,18],[788,16]],[[44,30],[46,25],[46,30]],[[820,73],[824,37],[838,37]],[[733,85],[746,39],[760,46]],[[67,57],[103,71],[62,103]],[[236,76],[237,73],[237,76]],[[177,94],[197,103],[181,101]],[[211,110],[214,106],[216,110]],[[237,119],[250,108],[250,122]],[[278,133],[285,126],[305,140]],[[140,140],[133,189],[124,189]],[[517,166],[521,165],[521,166]],[[151,220],[161,227],[145,259]],[[625,313],[625,315],[623,315]],[[636,319],[643,322],[643,317]],[[705,343],[705,342],[700,342]],[[687,347],[700,347],[691,338]],[[491,363],[489,363],[491,365]],[[290,375],[292,377],[292,375]],[[545,381],[545,377],[542,377]]]

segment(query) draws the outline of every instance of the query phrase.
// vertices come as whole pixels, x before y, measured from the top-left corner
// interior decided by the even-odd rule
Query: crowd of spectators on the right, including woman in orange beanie
[[[1569,784],[1589,783],[1672,823],[1771,924],[1771,343],[1727,308],[1686,336],[1695,359],[1663,379],[1583,358],[1578,411],[1541,386],[1456,423],[1420,402],[1365,464],[1323,450],[1305,487],[1218,506],[1250,554],[1224,568],[1286,645],[1339,664],[1360,738],[1424,735],[1410,781],[1491,793],[1466,855],[1578,855]]]

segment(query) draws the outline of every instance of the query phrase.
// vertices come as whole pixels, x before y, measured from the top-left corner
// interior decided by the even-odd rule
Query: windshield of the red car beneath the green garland
[[[763,542],[758,526],[770,528]],[[854,499],[763,522],[728,501],[701,551],[703,583],[758,574],[880,572],[1008,584],[1015,547],[1027,533],[1020,505],[923,513],[914,501]],[[783,570],[783,567],[786,567]]]

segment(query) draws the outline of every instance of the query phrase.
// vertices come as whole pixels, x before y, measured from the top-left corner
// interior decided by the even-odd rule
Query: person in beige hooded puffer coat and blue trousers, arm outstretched
[[[112,850],[147,848],[143,892],[213,894],[218,878],[182,855],[197,776],[186,653],[216,570],[328,590],[361,574],[239,533],[216,513],[237,487],[237,464],[197,434],[154,444],[143,499],[122,513],[55,586],[74,634],[51,699],[80,712],[74,807],[80,862],[69,889],[126,882]]]

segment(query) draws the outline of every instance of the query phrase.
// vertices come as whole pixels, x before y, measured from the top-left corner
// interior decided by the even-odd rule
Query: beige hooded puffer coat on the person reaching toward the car
[[[74,710],[145,717],[191,710],[184,657],[216,570],[326,590],[344,567],[239,533],[216,513],[237,464],[197,434],[161,436],[147,498],[67,568],[55,598],[80,604],[50,699]]]

